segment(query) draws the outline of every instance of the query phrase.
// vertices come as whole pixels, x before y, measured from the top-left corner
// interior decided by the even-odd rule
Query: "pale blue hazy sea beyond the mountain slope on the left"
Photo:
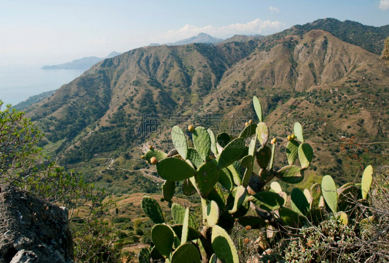
[[[60,88],[84,70],[42,70],[41,66],[0,66],[0,100],[17,105],[31,96]]]

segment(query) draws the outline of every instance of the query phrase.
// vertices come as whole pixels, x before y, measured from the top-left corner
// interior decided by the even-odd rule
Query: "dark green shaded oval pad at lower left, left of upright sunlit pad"
[[[162,256],[170,255],[174,243],[174,231],[171,227],[164,224],[155,225],[151,229],[151,239]]]

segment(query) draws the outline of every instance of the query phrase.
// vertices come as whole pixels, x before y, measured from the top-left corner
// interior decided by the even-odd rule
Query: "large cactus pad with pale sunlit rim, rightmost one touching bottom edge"
[[[222,262],[239,263],[238,251],[226,230],[218,225],[213,226],[211,239],[213,250],[219,260]]]

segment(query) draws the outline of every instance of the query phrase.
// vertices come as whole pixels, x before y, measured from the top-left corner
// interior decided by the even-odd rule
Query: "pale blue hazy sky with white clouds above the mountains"
[[[389,24],[389,0],[0,0],[0,66],[104,57],[198,33],[269,35],[320,18]]]

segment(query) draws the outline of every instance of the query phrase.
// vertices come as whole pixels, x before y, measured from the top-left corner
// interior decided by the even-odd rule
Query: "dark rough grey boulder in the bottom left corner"
[[[68,211],[11,186],[0,192],[0,263],[72,263]]]

